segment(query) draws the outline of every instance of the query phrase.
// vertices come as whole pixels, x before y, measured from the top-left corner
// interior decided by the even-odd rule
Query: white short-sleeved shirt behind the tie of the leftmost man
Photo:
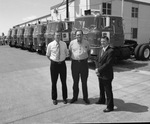
[[[66,57],[68,56],[68,50],[67,50],[67,45],[65,42],[63,41],[59,41],[60,44],[60,58],[58,59],[58,48],[57,48],[57,41],[54,40],[52,42],[50,42],[47,46],[47,51],[46,51],[46,56],[48,56],[51,60],[55,61],[55,62],[61,62],[64,61],[66,59]]]

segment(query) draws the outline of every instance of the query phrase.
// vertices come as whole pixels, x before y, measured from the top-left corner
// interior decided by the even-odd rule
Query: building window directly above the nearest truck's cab
[[[105,15],[111,15],[111,3],[103,3],[102,11]]]

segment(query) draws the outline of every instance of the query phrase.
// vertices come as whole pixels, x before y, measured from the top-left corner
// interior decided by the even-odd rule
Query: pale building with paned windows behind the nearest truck
[[[66,18],[66,3],[52,6],[54,20]],[[136,40],[138,44],[150,40],[150,3],[142,0],[69,0],[69,20],[84,15],[85,10],[104,15],[123,17],[125,39]]]

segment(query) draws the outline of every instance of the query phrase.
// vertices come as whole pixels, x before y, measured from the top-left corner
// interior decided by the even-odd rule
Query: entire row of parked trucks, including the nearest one
[[[94,60],[101,49],[101,37],[106,35],[110,39],[110,46],[114,49],[116,60],[135,57],[137,60],[148,60],[150,57],[150,43],[138,44],[134,40],[124,39],[122,17],[110,15],[87,15],[77,17],[72,21],[49,21],[25,27],[14,27],[8,32],[9,45],[21,47],[31,51],[46,52],[46,46],[54,39],[54,32],[62,33],[62,41],[69,45],[75,37],[75,31],[83,30],[84,39],[91,47],[91,58]]]

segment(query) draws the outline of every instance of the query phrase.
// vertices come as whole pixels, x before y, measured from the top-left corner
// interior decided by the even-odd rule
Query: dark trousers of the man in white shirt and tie
[[[65,61],[61,63],[51,61],[50,72],[52,81],[52,100],[57,99],[57,80],[59,74],[62,83],[62,96],[64,100],[67,99],[67,85],[66,85],[67,69]]]

